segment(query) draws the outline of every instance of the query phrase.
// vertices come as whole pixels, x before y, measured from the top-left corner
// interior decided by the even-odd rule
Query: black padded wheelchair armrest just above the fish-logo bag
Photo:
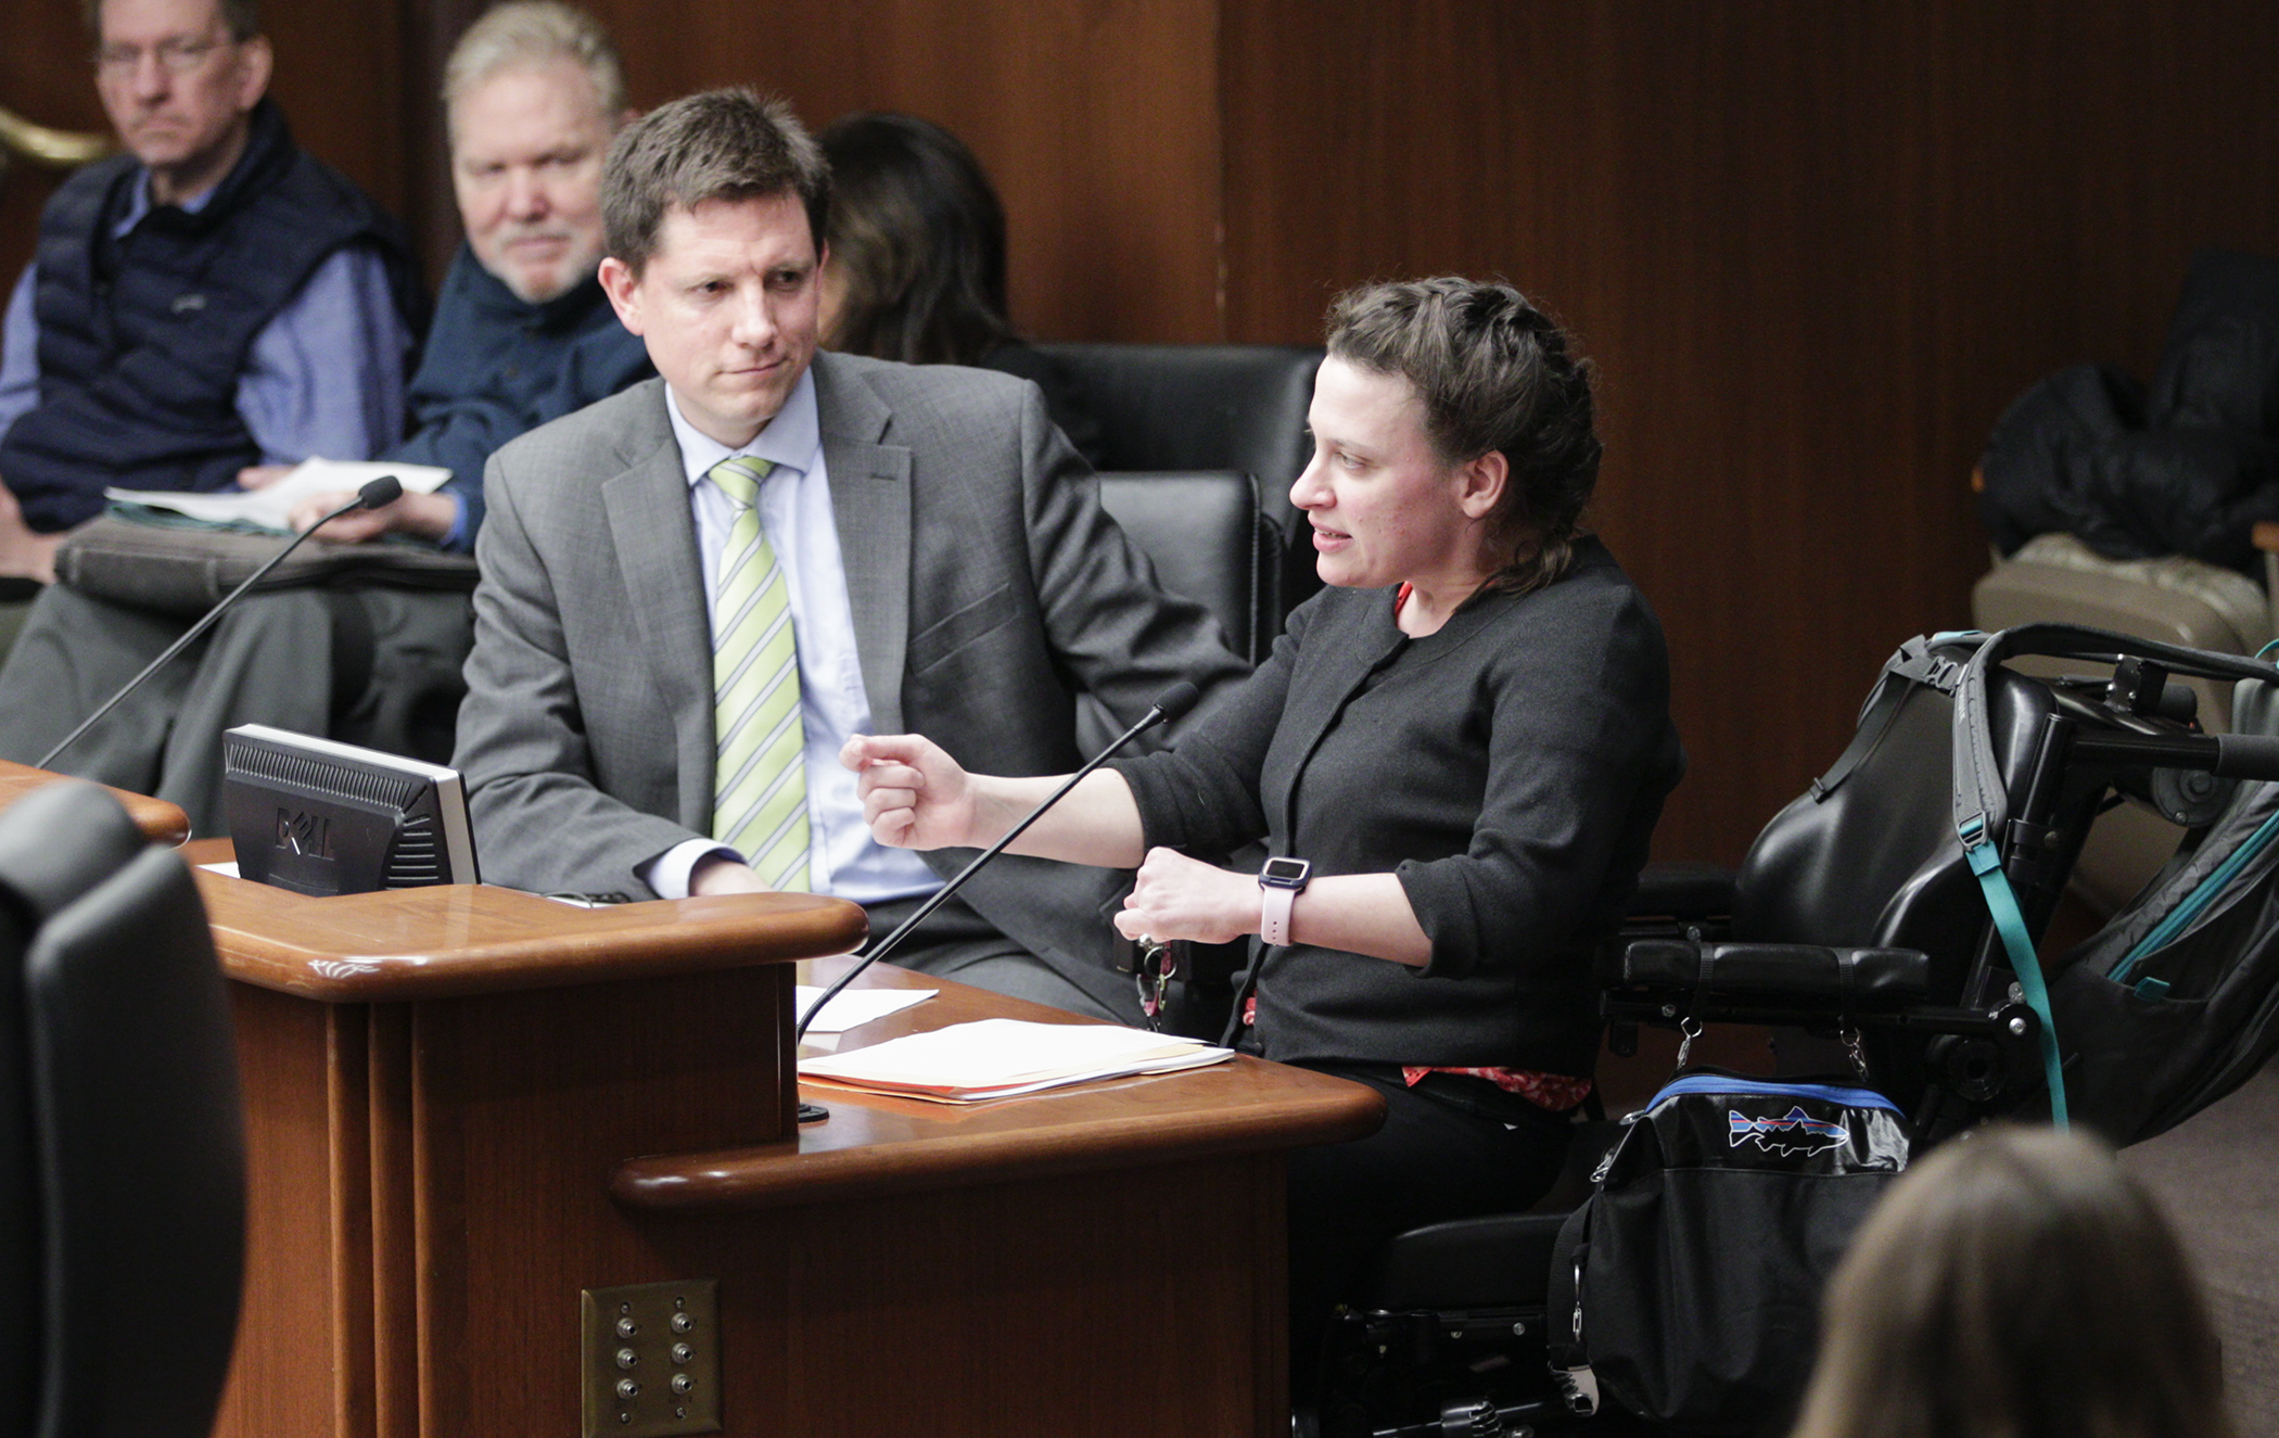
[[[1930,955],[1917,948],[1639,939],[1623,946],[1618,964],[1607,975],[1616,989],[1828,1003],[1844,1012],[1896,1010],[1930,991]]]

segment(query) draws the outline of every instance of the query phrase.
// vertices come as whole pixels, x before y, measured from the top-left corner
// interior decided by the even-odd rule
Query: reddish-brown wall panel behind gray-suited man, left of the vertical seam
[[[989,166],[1014,321],[1044,340],[1217,335],[1210,0],[643,0],[593,5],[638,105],[713,84],[814,128],[905,109]]]

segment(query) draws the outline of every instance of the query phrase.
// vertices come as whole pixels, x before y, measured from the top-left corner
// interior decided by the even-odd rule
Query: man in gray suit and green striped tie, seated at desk
[[[1126,722],[1242,677],[1162,595],[1010,376],[816,353],[830,175],[782,105],[711,91],[608,155],[602,285],[659,381],[485,474],[458,725],[483,873],[665,898],[811,889],[884,932],[969,855],[871,841],[848,734],[1067,773],[1076,693]],[[896,962],[1137,1014],[1112,875],[1007,859]]]

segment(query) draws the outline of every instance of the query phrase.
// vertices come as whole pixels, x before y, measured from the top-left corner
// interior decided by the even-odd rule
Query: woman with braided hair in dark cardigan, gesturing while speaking
[[[1244,1053],[1379,1089],[1386,1126],[1290,1158],[1292,1363],[1404,1228],[1509,1212],[1591,1089],[1593,943],[1684,768],[1661,624],[1577,531],[1591,374],[1506,285],[1377,285],[1329,314],[1290,490],[1329,583],[1176,752],[1087,777],[1014,852],[1140,866],[1128,937],[1263,946]],[[857,736],[882,843],[987,845],[1060,779]],[[1265,873],[1181,850],[1265,839]]]

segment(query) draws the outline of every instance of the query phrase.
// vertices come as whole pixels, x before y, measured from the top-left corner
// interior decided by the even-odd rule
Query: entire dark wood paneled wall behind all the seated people
[[[435,71],[476,7],[269,5],[296,128],[431,258],[454,235]],[[14,0],[0,103],[98,119],[73,11]],[[1964,476],[2024,385],[2149,369],[2195,246],[2279,253],[2263,0],[595,11],[636,103],[752,82],[818,125],[884,107],[964,134],[1042,337],[1304,342],[1335,289],[1424,271],[1541,296],[1600,365],[1595,522],[1671,631],[1693,773],[1668,857],[1739,857],[1873,665],[1969,618]],[[27,189],[0,210],[9,269]]]

